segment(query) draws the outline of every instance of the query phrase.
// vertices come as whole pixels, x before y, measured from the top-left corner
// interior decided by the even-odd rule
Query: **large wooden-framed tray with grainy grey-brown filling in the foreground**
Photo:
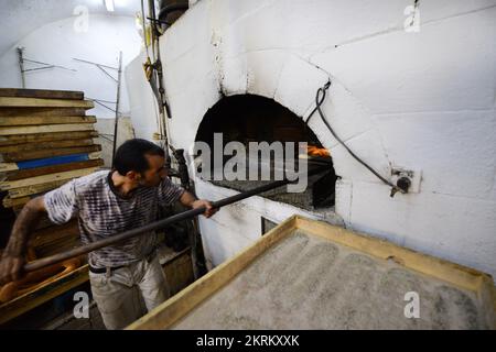
[[[495,311],[487,274],[294,216],[128,329],[495,329]]]

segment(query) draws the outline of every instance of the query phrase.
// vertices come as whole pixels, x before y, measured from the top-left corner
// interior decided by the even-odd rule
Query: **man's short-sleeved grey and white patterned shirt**
[[[46,193],[50,220],[62,224],[77,217],[82,242],[87,244],[155,221],[159,206],[174,204],[184,193],[165,178],[158,187],[139,187],[123,198],[110,176],[108,170],[96,172]],[[150,254],[155,244],[154,232],[143,233],[90,252],[88,262],[94,267],[128,265]]]

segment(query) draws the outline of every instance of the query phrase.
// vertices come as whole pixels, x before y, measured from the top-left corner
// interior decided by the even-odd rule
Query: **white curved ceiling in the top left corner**
[[[132,16],[141,11],[141,0],[114,1],[115,11],[108,12],[104,0],[0,0],[0,56],[35,29],[72,16],[77,6],[88,7],[89,14]]]

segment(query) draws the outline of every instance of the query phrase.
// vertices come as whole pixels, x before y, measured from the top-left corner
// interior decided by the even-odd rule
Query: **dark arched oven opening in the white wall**
[[[211,150],[214,151],[216,146],[215,136],[218,139],[219,133],[222,133],[223,148],[227,143],[234,141],[240,142],[247,151],[249,150],[250,142],[267,142],[269,144],[281,142],[283,145],[287,142],[294,142],[295,146],[298,146],[298,142],[306,142],[308,147],[303,153],[298,147],[294,148],[294,157],[296,160],[295,168],[298,169],[298,161],[305,158],[309,170],[322,166],[328,166],[326,167],[328,170],[310,176],[308,187],[304,191],[287,193],[285,187],[280,187],[265,193],[263,197],[308,210],[334,206],[337,176],[334,172],[331,154],[322,146],[316,135],[303,120],[289,109],[272,99],[260,96],[242,95],[225,97],[205,114],[200,124],[196,141],[207,143]],[[197,158],[202,158],[200,154]],[[270,179],[274,180],[274,168],[280,167],[276,166],[279,164],[274,163],[274,155],[271,154],[269,161],[260,158],[261,155],[257,156],[259,157],[258,163],[270,163]],[[230,157],[229,155],[224,155],[223,166]],[[247,153],[246,157],[247,165],[249,165],[249,158],[252,158],[254,155]],[[202,161],[197,161],[197,165],[198,172],[204,167],[211,167],[211,175],[214,175],[214,163],[211,163],[208,166],[202,164]],[[283,167],[285,168],[287,165]],[[239,191],[271,182],[267,179],[261,180],[260,178],[252,179],[252,177],[248,176],[247,180],[214,179],[213,177],[209,180],[217,186]]]

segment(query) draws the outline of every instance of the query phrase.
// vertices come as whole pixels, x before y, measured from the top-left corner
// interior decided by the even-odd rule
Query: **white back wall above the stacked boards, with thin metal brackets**
[[[76,32],[75,16],[45,24],[28,34],[0,57],[0,87],[21,87],[15,47],[25,47],[26,58],[74,68],[77,72],[51,68],[26,73],[26,88],[82,90],[86,97],[116,100],[116,82],[93,65],[73,61],[73,57],[118,66],[122,51],[122,67],[134,58],[141,40],[132,16],[89,14],[87,32]],[[26,64],[25,68],[36,67]],[[117,72],[111,72],[117,78]],[[122,78],[125,75],[122,74]],[[112,107],[110,105],[110,107]],[[120,111],[129,116],[126,79],[121,86]],[[97,118],[114,118],[114,112],[96,106],[88,114]]]

